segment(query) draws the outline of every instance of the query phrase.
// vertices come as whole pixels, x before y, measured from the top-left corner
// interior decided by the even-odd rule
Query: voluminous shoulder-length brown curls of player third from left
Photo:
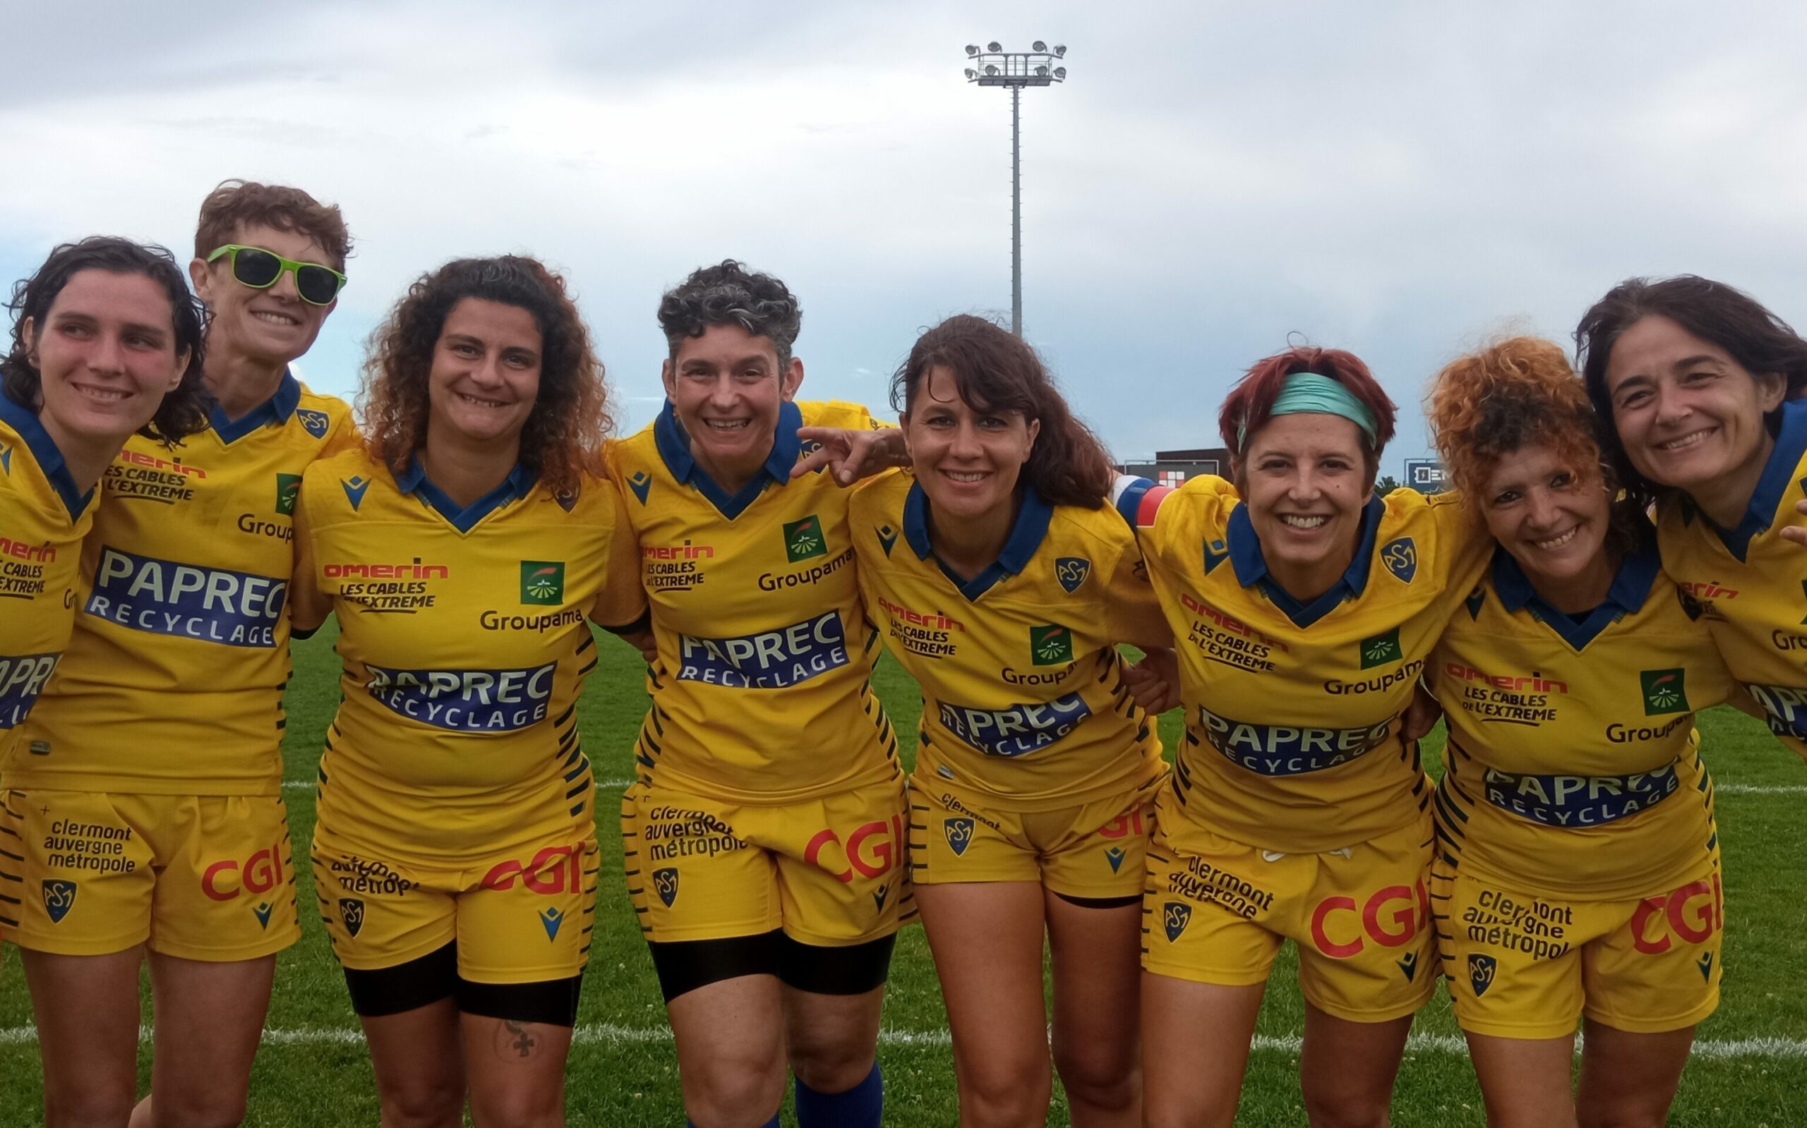
[[[423,274],[370,336],[358,413],[365,444],[403,473],[426,442],[426,375],[446,316],[464,298],[513,305],[540,330],[540,390],[520,430],[520,462],[553,493],[600,475],[602,440],[614,430],[602,361],[564,278],[533,258],[459,258]]]

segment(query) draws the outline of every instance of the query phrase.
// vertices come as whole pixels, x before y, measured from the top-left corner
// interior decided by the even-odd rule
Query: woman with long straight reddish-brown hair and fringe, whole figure
[[[1119,641],[1171,646],[1104,505],[1109,457],[1035,352],[981,318],[925,332],[891,386],[914,475],[849,511],[867,615],[923,691],[911,877],[963,1124],[1140,1124],[1137,953],[1160,738]]]

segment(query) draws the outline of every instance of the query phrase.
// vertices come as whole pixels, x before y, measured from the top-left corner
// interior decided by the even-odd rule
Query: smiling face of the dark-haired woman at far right
[[[1662,316],[1632,323],[1606,361],[1612,421],[1632,466],[1657,485],[1686,489],[1722,525],[1737,523],[1756,489],[1774,444],[1764,413],[1785,392],[1782,375],[1746,372]]]

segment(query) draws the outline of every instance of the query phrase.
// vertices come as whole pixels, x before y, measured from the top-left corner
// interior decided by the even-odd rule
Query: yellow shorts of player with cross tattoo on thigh
[[[459,978],[473,984],[571,978],[589,960],[596,834],[587,825],[459,868],[381,857],[318,825],[313,868],[332,955],[352,971],[407,964],[454,940]]]

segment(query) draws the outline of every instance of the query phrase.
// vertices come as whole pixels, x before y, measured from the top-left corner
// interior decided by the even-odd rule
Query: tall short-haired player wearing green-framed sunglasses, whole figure
[[[107,467],[76,630],[20,735],[33,754],[13,785],[60,792],[52,818],[123,852],[98,874],[27,843],[29,864],[80,890],[31,944],[45,1059],[63,1063],[47,1086],[96,1123],[125,1123],[137,1086],[145,964],[155,1112],[130,1115],[242,1121],[276,953],[300,938],[282,803],[289,514],[307,464],[351,440],[351,410],[287,365],[332,312],[349,249],[338,208],[296,188],[228,180],[201,204],[206,428],[175,449],[132,437]]]

